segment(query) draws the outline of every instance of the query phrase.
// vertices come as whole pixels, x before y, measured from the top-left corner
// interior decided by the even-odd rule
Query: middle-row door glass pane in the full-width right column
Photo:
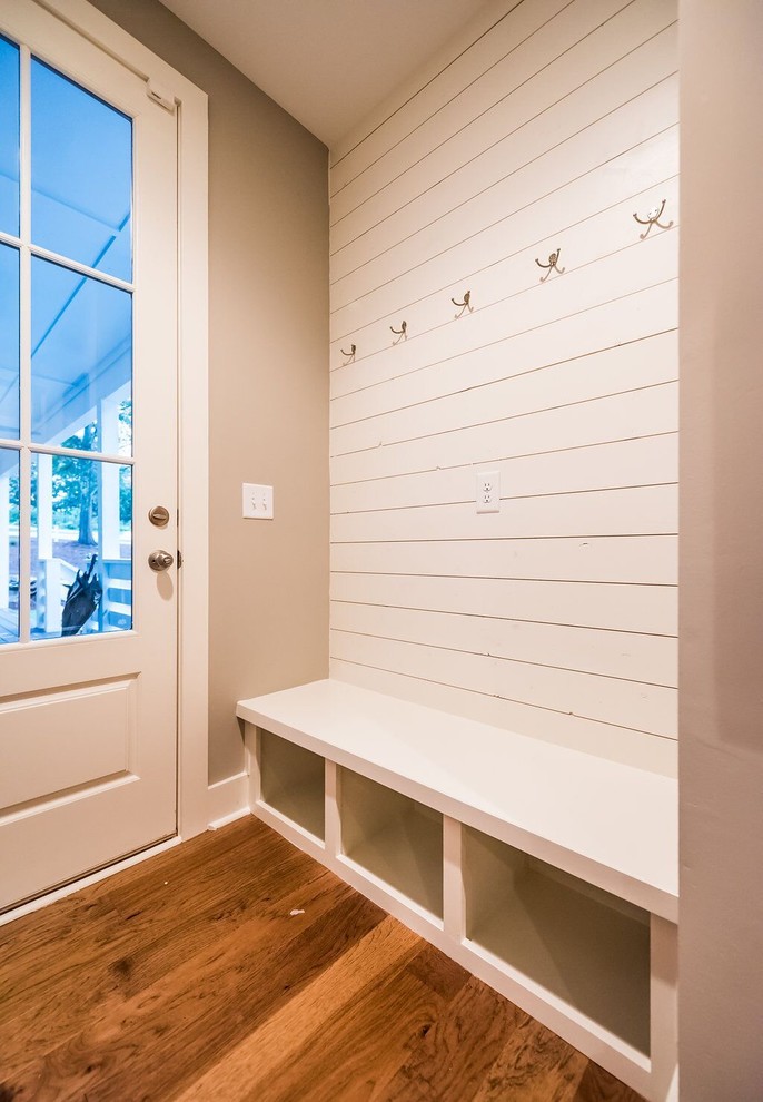
[[[32,440],[129,454],[132,296],[32,259]]]

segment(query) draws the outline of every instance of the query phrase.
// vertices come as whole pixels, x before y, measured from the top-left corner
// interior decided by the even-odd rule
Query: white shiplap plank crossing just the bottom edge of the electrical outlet
[[[337,513],[331,518],[331,540],[387,543],[427,539],[673,535],[677,527],[677,485],[638,486],[503,498],[496,513],[477,513],[473,500],[453,505]]]

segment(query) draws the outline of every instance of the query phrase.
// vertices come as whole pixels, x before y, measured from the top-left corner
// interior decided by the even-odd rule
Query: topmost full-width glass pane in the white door
[[[132,122],[32,61],[32,240],[132,277]]]

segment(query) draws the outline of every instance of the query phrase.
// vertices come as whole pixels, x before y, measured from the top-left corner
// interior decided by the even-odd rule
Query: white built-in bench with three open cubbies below
[[[674,779],[335,680],[237,715],[256,815],[646,1098],[675,1091]]]

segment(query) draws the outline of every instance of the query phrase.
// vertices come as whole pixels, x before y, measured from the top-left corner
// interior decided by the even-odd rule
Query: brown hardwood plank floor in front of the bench
[[[0,927],[0,1102],[638,1102],[247,817]]]

